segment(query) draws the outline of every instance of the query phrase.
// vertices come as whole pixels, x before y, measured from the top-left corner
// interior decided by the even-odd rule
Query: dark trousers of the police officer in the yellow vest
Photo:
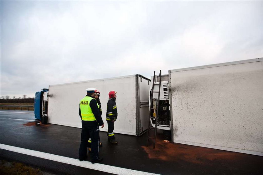
[[[94,125],[91,123],[94,123]],[[80,159],[85,158],[87,155],[89,138],[91,138],[91,161],[95,161],[99,159],[99,126],[96,122],[82,121],[81,143],[79,149]]]

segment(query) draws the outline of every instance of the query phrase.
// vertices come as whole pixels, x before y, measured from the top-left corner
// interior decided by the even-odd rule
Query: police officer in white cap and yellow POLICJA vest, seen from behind
[[[87,95],[80,100],[79,115],[81,118],[81,143],[79,149],[79,159],[83,161],[87,158],[87,143],[91,138],[91,163],[101,162],[99,157],[99,137],[100,129],[104,127],[104,123],[99,111],[99,105],[94,99],[95,88],[88,88]]]

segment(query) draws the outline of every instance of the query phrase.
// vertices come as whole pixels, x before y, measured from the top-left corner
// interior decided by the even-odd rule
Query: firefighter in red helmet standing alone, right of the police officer
[[[109,142],[116,144],[118,143],[114,136],[114,122],[117,119],[117,107],[116,107],[116,93],[115,91],[109,92],[109,100],[107,103],[107,112],[106,112],[106,120],[108,123],[108,140]]]

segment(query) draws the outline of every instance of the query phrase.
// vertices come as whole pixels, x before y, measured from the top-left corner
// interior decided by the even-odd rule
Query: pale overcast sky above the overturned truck
[[[2,1],[1,92],[263,57],[262,1]]]

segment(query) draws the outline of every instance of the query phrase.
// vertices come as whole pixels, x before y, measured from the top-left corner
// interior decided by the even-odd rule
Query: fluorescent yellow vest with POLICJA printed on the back
[[[92,113],[92,110],[90,108],[90,100],[94,98],[90,96],[85,96],[83,99],[80,100],[80,111],[81,111],[81,118],[84,121],[95,121],[96,118],[94,114]],[[99,108],[99,105],[97,103],[97,106]]]

